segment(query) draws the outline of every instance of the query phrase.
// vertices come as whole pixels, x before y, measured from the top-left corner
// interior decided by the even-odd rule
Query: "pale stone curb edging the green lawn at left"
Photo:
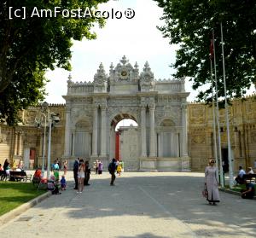
[[[46,192],[45,194],[42,194],[34,198],[33,200],[30,200],[16,207],[14,210],[3,214],[2,216],[0,216],[0,226],[2,226],[4,223],[8,223],[11,219],[19,216],[22,212],[26,212],[26,210],[28,210],[32,206],[36,206],[39,202],[41,202],[42,200],[45,200],[50,195],[51,195],[51,192]]]

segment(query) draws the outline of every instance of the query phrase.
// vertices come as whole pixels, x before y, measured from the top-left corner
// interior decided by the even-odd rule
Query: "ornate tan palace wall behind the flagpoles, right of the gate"
[[[233,170],[255,166],[256,160],[256,101],[254,96],[246,100],[234,100],[229,107],[230,142]],[[188,105],[189,156],[192,171],[203,171],[208,160],[214,159],[212,132],[212,107],[201,103]],[[222,159],[228,160],[227,128],[225,110],[219,110]],[[218,135],[217,135],[218,136]]]

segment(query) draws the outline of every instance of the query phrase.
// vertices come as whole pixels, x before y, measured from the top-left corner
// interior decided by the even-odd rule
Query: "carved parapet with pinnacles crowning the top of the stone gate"
[[[67,96],[91,96],[92,93],[135,95],[140,92],[153,91],[159,96],[181,97],[183,101],[186,101],[186,97],[189,96],[189,93],[184,89],[184,78],[156,80],[148,61],[146,61],[143,71],[139,72],[137,62],[132,67],[125,55],[117,65],[111,63],[109,75],[105,72],[101,63],[93,79],[92,83],[74,83],[70,75],[67,80]]]

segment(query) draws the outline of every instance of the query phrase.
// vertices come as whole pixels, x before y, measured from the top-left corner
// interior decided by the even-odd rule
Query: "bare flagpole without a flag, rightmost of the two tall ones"
[[[224,98],[225,98],[225,116],[227,124],[227,137],[228,137],[228,154],[229,154],[229,172],[230,172],[230,189],[233,187],[233,168],[232,168],[232,158],[231,158],[231,145],[230,145],[230,120],[229,120],[229,108],[227,102],[227,89],[226,89],[226,77],[225,77],[225,63],[224,63],[224,42],[223,42],[223,28],[222,22],[220,22],[220,32],[221,32],[221,49],[222,49],[222,63],[223,63],[223,81],[224,81]]]

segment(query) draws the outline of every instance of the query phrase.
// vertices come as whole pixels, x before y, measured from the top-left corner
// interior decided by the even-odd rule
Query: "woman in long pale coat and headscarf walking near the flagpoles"
[[[214,166],[215,161],[211,160],[210,165],[206,167],[205,178],[207,185],[207,200],[209,204],[216,205],[216,202],[219,202],[218,194],[218,174],[217,167]]]

